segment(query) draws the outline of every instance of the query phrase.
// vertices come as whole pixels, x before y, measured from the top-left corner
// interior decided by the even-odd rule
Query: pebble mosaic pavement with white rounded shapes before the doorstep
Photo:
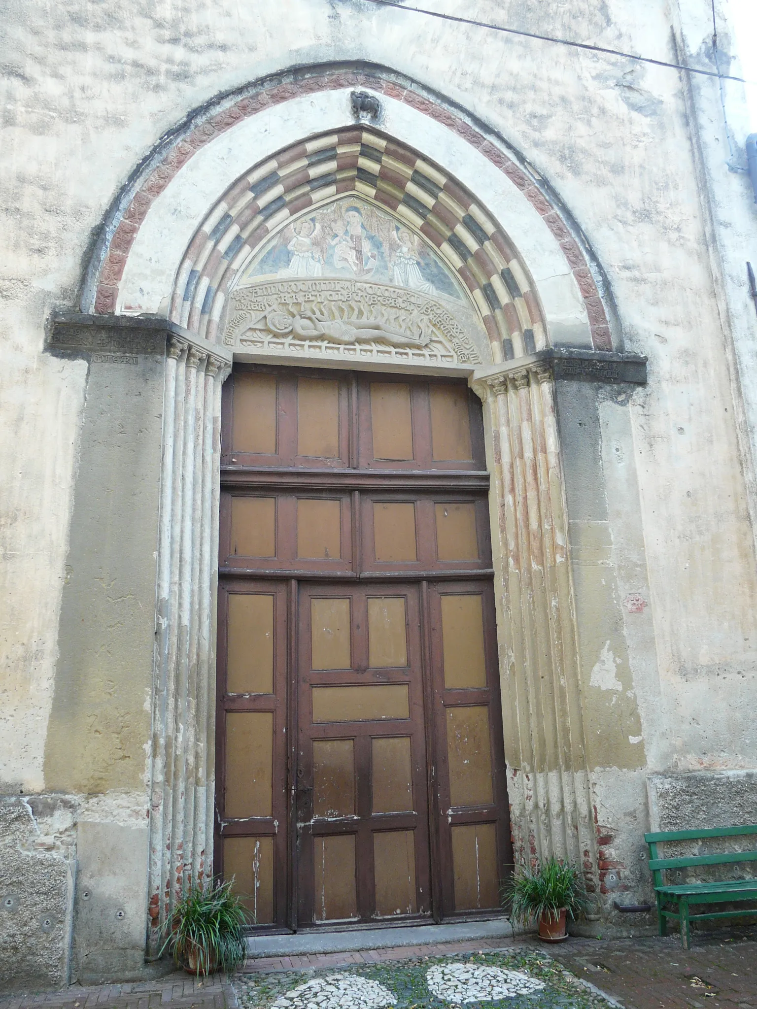
[[[513,948],[233,979],[240,1009],[608,1009],[545,954]]]

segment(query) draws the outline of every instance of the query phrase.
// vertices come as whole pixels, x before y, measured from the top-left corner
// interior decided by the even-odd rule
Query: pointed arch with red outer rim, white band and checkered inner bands
[[[391,80],[388,79],[390,76]],[[212,107],[193,115],[135,173],[109,215],[109,222],[93,256],[82,299],[83,311],[169,315],[174,321],[180,321],[182,313],[177,305],[177,296],[183,300],[187,292],[189,273],[194,268],[190,260],[197,253],[197,245],[204,243],[204,258],[206,262],[210,260],[211,265],[215,264],[217,274],[218,260],[240,233],[237,228],[229,239],[228,229],[224,229],[216,245],[209,249],[209,232],[201,235],[204,226],[213,216],[220,220],[228,212],[230,196],[235,196],[238,201],[240,186],[249,189],[250,179],[259,182],[269,176],[271,171],[263,171],[266,167],[276,172],[276,164],[272,162],[279,161],[280,166],[285,167],[281,162],[286,161],[291,169],[299,157],[307,163],[310,151],[305,149],[306,146],[317,146],[319,138],[323,140],[324,136],[331,135],[337,138],[334,160],[341,161],[341,192],[360,192],[361,184],[365,195],[385,202],[393,210],[399,207],[401,213],[408,214],[411,223],[431,238],[437,247],[446,242],[444,250],[449,253],[451,264],[457,267],[460,278],[470,292],[490,339],[493,344],[502,341],[500,346],[503,347],[504,358],[528,353],[531,341],[535,341],[533,345],[537,349],[547,342],[592,346],[598,350],[612,349],[608,315],[594,281],[598,267],[585,249],[580,233],[571,227],[563,208],[537,174],[530,173],[523,161],[518,163],[517,155],[512,151],[506,152],[502,141],[476,128],[469,117],[453,110],[438,96],[428,97],[412,82],[398,83],[397,75],[380,68],[370,68],[369,72],[315,68],[301,72],[297,80],[293,80],[292,75],[289,77],[289,80],[274,78],[245,89],[243,93],[226,96]],[[350,89],[354,87],[369,88],[381,96],[385,110],[381,128],[355,123],[349,101]],[[316,96],[319,106],[323,108],[317,107],[314,111],[313,99]],[[307,111],[303,109],[304,104],[307,104]],[[293,134],[292,142],[275,144],[272,149],[271,113],[277,106],[280,107],[282,122],[294,126],[298,119],[303,119],[305,112],[310,128],[305,122],[300,123],[300,132]],[[318,133],[313,127],[326,127],[326,131]],[[358,133],[364,133],[365,137],[358,141]],[[402,133],[422,136],[425,142],[419,146],[434,152],[438,150],[438,162],[452,162],[457,169],[456,178],[441,170],[438,162],[435,164],[430,157],[414,150]],[[303,141],[302,136],[309,139]],[[364,146],[372,148],[367,151],[367,159],[361,156],[359,149],[360,142],[365,138],[368,142]],[[346,148],[355,142],[356,152],[348,151]],[[269,153],[265,149],[266,143]],[[326,149],[323,143],[321,149]],[[388,150],[389,156],[386,153]],[[253,152],[258,156],[255,157]],[[260,156],[265,154],[267,156]],[[246,162],[243,160],[245,156]],[[503,204],[502,207],[493,206],[490,198],[484,210],[473,200],[471,187],[466,189],[461,185],[460,177],[464,172],[460,171],[460,166],[466,159],[476,162],[478,175],[482,170],[484,175],[490,176],[489,189],[494,199]],[[208,166],[210,174],[215,169],[214,179],[218,181],[212,194],[198,192],[202,189],[202,186],[198,187],[198,178],[203,174],[203,161],[206,178]],[[347,164],[347,161],[350,163]],[[417,167],[413,165],[414,161]],[[255,163],[256,167],[248,167]],[[399,176],[404,178],[398,178],[398,167]],[[472,164],[469,167],[473,169]],[[414,172],[417,174],[415,180],[412,178]],[[351,179],[347,179],[350,173]],[[285,197],[287,212],[297,213],[313,202],[307,195],[307,184],[312,179],[303,177],[302,165],[284,174],[289,175],[288,182],[291,184],[289,200]],[[427,186],[424,189],[424,182],[419,176],[430,180],[431,188]],[[376,190],[372,184],[377,180],[381,182]],[[421,183],[420,188],[418,182]],[[440,187],[439,183],[442,184]],[[285,196],[284,187],[279,185],[279,195],[273,199]],[[364,188],[366,185],[368,189]],[[441,201],[431,199],[434,186],[444,191]],[[188,190],[194,190],[192,195],[195,201],[199,199],[202,202],[204,199],[204,205],[196,202],[192,206],[192,199],[186,199]],[[498,200],[499,194],[502,194],[502,200]],[[455,204],[451,217],[450,201]],[[224,202],[226,209],[216,215],[218,207]],[[246,203],[249,204],[249,201]],[[269,203],[268,200],[266,206]],[[529,235],[533,231],[536,235],[534,245],[537,250],[530,257],[519,255],[523,253],[523,241],[519,241],[519,235],[514,233],[518,228],[514,227],[508,206],[517,210],[515,217],[521,221],[524,234]],[[177,208],[180,208],[178,213]],[[530,220],[527,220],[529,217]],[[463,218],[467,221],[464,222]],[[259,230],[263,221],[250,222],[248,219],[248,223],[252,223],[252,227],[248,228],[249,234]],[[173,248],[171,236],[167,234],[169,225],[174,225],[177,232],[173,236]],[[260,236],[260,240],[265,234]],[[181,250],[177,242],[181,243]],[[221,248],[221,245],[224,247]],[[547,249],[547,258],[551,257],[553,261],[548,282],[540,281],[538,269],[534,270],[534,266],[538,267],[538,262],[534,260],[538,258],[539,246]],[[164,261],[160,261],[161,255]],[[561,260],[556,277],[555,258]],[[589,268],[589,261],[593,271]],[[493,270],[493,266],[497,268]],[[147,273],[150,274],[148,279]],[[515,287],[512,284],[514,274]],[[529,277],[533,279],[529,281]],[[134,292],[145,290],[145,281],[147,286],[152,285],[153,290],[148,292],[146,298],[134,298]],[[206,333],[212,339],[213,320],[214,317],[217,320],[222,309],[222,302],[213,302],[219,292],[223,294],[224,284],[228,288],[232,276],[226,269],[220,285],[211,285],[211,281],[212,276],[208,275],[204,283],[203,302],[208,289],[214,287],[207,304],[193,306],[194,316],[191,320],[187,316],[185,322],[189,322],[192,331]],[[556,291],[555,284],[561,286],[559,291]],[[159,300],[157,288],[161,288]],[[206,312],[203,312],[203,307]],[[567,317],[568,324],[563,325]],[[542,322],[546,333],[543,330],[540,333]],[[511,344],[513,349],[510,349]]]

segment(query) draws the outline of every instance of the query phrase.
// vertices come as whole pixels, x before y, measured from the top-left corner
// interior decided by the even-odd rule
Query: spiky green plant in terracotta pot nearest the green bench
[[[578,918],[588,909],[580,870],[554,856],[534,869],[521,869],[506,885],[504,896],[516,921],[526,925],[536,918],[539,938],[545,942],[566,939],[566,916]]]

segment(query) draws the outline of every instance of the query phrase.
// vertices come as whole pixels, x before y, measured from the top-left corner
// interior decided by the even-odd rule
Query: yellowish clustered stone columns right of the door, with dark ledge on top
[[[598,888],[555,377],[645,380],[628,354],[543,351],[478,372],[490,466],[508,792],[520,864],[555,855]]]

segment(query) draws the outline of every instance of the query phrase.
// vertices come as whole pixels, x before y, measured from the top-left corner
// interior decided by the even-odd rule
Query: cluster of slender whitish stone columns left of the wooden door
[[[214,348],[215,349],[215,348]],[[221,385],[230,362],[173,336],[166,368],[149,844],[149,947],[212,873]]]

